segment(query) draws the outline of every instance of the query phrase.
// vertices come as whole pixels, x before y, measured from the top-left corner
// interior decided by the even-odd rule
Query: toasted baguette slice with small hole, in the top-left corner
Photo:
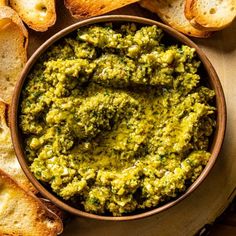
[[[10,0],[10,6],[33,30],[46,31],[56,22],[55,0]]]

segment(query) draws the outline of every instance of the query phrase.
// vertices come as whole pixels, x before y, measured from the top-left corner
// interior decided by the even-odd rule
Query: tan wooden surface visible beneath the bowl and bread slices
[[[52,34],[77,20],[58,4],[58,20],[45,33],[30,31],[29,55]],[[132,14],[157,19],[137,4],[114,14]],[[63,236],[191,236],[219,216],[236,189],[236,21],[210,39],[193,39],[206,53],[222,83],[228,112],[222,152],[205,181],[181,203],[155,216],[131,222],[103,222],[76,218]]]

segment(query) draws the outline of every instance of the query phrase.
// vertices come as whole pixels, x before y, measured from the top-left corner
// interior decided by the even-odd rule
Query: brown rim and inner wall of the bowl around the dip
[[[66,36],[67,34],[71,33],[74,30],[77,30],[80,27],[83,26],[88,26],[91,24],[95,23],[101,23],[101,22],[135,22],[138,24],[143,24],[143,25],[157,25],[163,31],[169,35],[171,38],[174,40],[186,44],[190,47],[193,47],[196,49],[196,52],[198,54],[199,59],[202,61],[203,68],[205,70],[206,75],[208,76],[207,83],[209,84],[209,87],[211,87],[215,93],[216,93],[216,107],[217,107],[217,124],[216,124],[216,129],[214,131],[214,135],[211,141],[210,145],[210,152],[211,152],[211,158],[202,171],[201,175],[197,178],[197,180],[187,189],[185,193],[183,193],[180,197],[178,197],[176,200],[173,200],[163,206],[156,207],[153,210],[147,210],[144,213],[137,213],[129,216],[121,216],[121,217],[112,217],[112,216],[100,216],[100,215],[95,215],[91,213],[87,213],[84,211],[81,211],[79,209],[76,209],[59,198],[57,198],[56,194],[53,194],[49,190],[47,190],[35,177],[34,175],[30,172],[29,167],[26,163],[24,152],[23,152],[23,144],[22,144],[22,138],[21,138],[21,133],[18,128],[18,108],[19,108],[19,99],[21,95],[21,90],[22,86],[24,84],[24,81],[31,70],[32,66],[35,64],[39,56],[44,53],[49,46],[51,46],[54,42],[59,40],[60,38]],[[113,15],[113,16],[101,16],[101,17],[96,17],[88,20],[84,20],[81,22],[78,22],[74,25],[71,25],[60,32],[56,33],[53,37],[48,39],[41,47],[38,48],[38,50],[33,54],[33,56],[29,59],[28,63],[26,64],[21,77],[16,85],[13,100],[12,100],[12,106],[11,106],[11,117],[10,117],[10,126],[11,126],[11,135],[12,135],[12,140],[13,140],[13,145],[14,149],[17,155],[17,158],[20,162],[20,165],[25,172],[26,176],[29,178],[29,180],[32,182],[32,184],[39,190],[39,192],[47,199],[55,203],[57,206],[60,208],[78,215],[78,216],[84,216],[88,218],[93,218],[93,219],[98,219],[98,220],[113,220],[113,221],[122,221],[122,220],[134,220],[134,219],[140,219],[144,218],[147,216],[151,216],[153,214],[157,214],[161,211],[164,211],[180,201],[182,201],[185,197],[187,197],[190,193],[192,193],[206,178],[208,175],[209,171],[213,167],[217,156],[220,152],[223,139],[224,139],[224,134],[225,134],[225,128],[226,128],[226,104],[225,104],[225,98],[224,98],[224,93],[219,81],[219,78],[210,63],[210,61],[207,59],[203,51],[195,44],[193,43],[189,38],[186,36],[182,35],[181,33],[175,31],[174,29],[161,24],[159,22],[141,18],[141,17],[135,17],[135,16],[123,16],[123,15]]]

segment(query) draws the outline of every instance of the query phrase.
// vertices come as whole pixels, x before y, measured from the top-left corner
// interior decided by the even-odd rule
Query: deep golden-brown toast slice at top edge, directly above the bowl
[[[64,0],[65,6],[75,18],[102,15],[139,0]]]

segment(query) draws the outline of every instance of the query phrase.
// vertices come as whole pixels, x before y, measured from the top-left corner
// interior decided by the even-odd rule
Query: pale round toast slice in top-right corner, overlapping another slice
[[[221,30],[236,17],[236,0],[186,0],[185,15],[199,29]]]

